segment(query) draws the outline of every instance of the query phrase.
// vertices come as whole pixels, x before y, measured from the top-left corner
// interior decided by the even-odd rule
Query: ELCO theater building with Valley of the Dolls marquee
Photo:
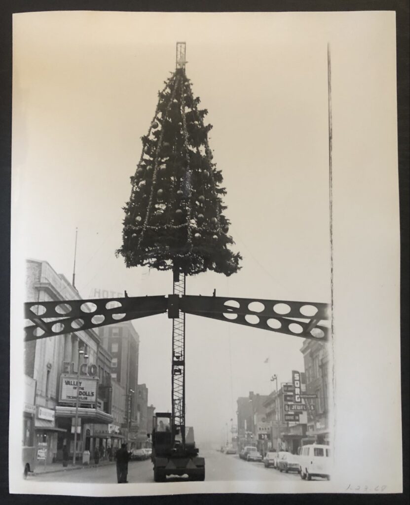
[[[26,299],[36,302],[32,308],[35,315],[43,312],[41,302],[81,299],[76,288],[47,262],[27,260],[26,266]],[[59,308],[63,316],[67,306],[61,304]],[[37,448],[37,463],[61,460],[64,446],[72,457],[74,438],[75,452],[81,457],[85,449],[92,448],[90,435],[94,425],[113,421],[109,402],[101,397],[103,389],[98,388],[98,366],[105,355],[104,351],[101,355],[100,339],[93,330],[75,328],[69,334],[25,342],[26,382],[32,381],[31,385],[26,384],[26,390],[32,389],[35,382],[32,443]],[[38,330],[37,335],[40,334]],[[104,359],[111,361],[111,356]]]

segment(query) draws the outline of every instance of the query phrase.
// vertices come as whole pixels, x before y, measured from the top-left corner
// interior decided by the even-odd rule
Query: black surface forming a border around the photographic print
[[[10,381],[10,190],[11,190],[11,113],[12,113],[12,15],[40,11],[152,11],[152,12],[296,12],[296,11],[395,11],[397,42],[397,118],[398,167],[401,235],[401,370],[403,494],[195,494],[139,497],[81,497],[9,494],[8,434]],[[408,326],[408,236],[409,236],[409,2],[408,0],[241,0],[139,1],[139,0],[0,0],[0,502],[41,505],[115,504],[131,505],[212,503],[220,505],[250,503],[283,505],[295,503],[408,503],[409,501],[409,326]],[[7,308],[7,309],[5,309]],[[21,338],[12,335],[12,338]],[[377,443],[377,441],[376,441]],[[383,455],[380,455],[383,465]],[[386,472],[389,470],[386,469]]]

